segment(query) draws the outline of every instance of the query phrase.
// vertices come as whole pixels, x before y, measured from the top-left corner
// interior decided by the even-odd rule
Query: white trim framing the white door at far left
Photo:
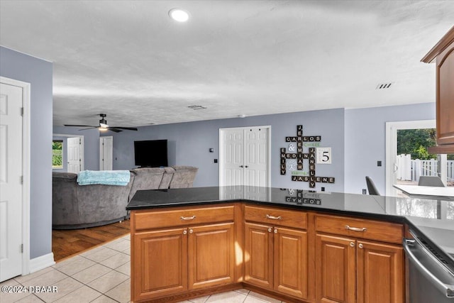
[[[0,82],[22,89],[22,275],[30,273],[30,90],[31,84],[0,77]]]

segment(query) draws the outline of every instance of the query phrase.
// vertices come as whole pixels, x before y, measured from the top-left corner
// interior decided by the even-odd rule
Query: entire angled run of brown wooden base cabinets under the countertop
[[[404,302],[403,226],[246,203],[131,212],[131,302],[245,287],[286,302]]]

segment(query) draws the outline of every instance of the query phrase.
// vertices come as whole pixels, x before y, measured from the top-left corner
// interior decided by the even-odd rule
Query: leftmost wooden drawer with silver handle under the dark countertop
[[[233,221],[233,205],[145,211],[133,214],[135,230]]]

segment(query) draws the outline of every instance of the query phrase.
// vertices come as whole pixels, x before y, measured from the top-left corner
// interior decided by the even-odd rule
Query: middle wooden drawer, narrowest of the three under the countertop
[[[244,218],[245,221],[261,222],[270,225],[299,229],[307,228],[307,214],[304,211],[246,205],[244,207]]]

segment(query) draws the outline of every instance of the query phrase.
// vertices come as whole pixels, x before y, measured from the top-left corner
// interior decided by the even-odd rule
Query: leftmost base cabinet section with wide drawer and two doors
[[[131,219],[132,302],[234,282],[233,206],[134,211]]]

